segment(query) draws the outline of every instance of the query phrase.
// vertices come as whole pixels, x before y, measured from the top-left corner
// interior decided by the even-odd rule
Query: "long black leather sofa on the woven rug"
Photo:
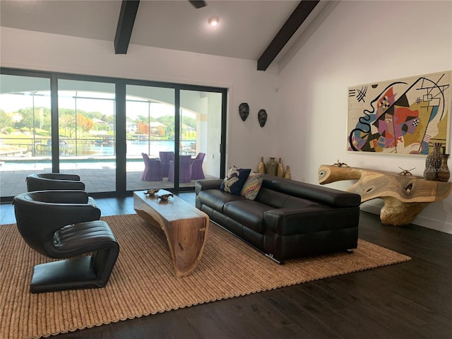
[[[196,182],[196,207],[275,261],[355,249],[358,194],[264,175],[254,201],[220,190],[222,179]]]

